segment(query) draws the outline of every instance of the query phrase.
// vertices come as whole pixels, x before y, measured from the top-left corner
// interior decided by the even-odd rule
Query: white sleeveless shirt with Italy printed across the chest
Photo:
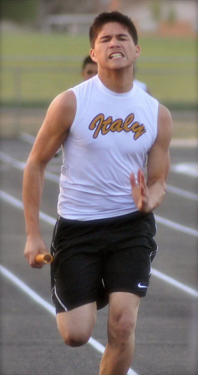
[[[64,144],[58,214],[92,220],[137,211],[129,175],[144,170],[157,135],[158,101],[135,84],[107,89],[98,76],[71,89],[76,115]]]

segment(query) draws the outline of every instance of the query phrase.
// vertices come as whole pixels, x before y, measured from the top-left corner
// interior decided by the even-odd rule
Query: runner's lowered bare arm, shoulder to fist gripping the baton
[[[45,167],[67,138],[75,113],[76,100],[73,92],[64,92],[54,99],[24,169],[22,196],[27,233],[24,255],[31,267],[41,268],[42,265],[34,260],[35,255],[47,252],[39,230],[39,207]]]

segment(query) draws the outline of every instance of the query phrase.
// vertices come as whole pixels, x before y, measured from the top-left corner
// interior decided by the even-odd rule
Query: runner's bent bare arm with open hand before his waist
[[[130,174],[131,193],[140,212],[150,212],[159,206],[166,191],[166,179],[170,167],[169,144],[172,134],[170,112],[163,105],[158,110],[158,133],[148,154],[147,181],[138,170],[137,184],[134,173]]]

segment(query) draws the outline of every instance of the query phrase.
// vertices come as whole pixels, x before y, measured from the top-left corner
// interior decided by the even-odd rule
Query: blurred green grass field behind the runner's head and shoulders
[[[172,108],[194,108],[198,100],[197,40],[140,37],[136,78]],[[88,37],[39,32],[1,33],[1,103],[46,105],[80,83]]]

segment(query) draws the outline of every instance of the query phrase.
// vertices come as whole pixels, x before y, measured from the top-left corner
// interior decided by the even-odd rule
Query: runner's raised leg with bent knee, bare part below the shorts
[[[64,342],[71,347],[86,344],[91,336],[96,314],[95,302],[67,312],[59,312],[57,325]]]

